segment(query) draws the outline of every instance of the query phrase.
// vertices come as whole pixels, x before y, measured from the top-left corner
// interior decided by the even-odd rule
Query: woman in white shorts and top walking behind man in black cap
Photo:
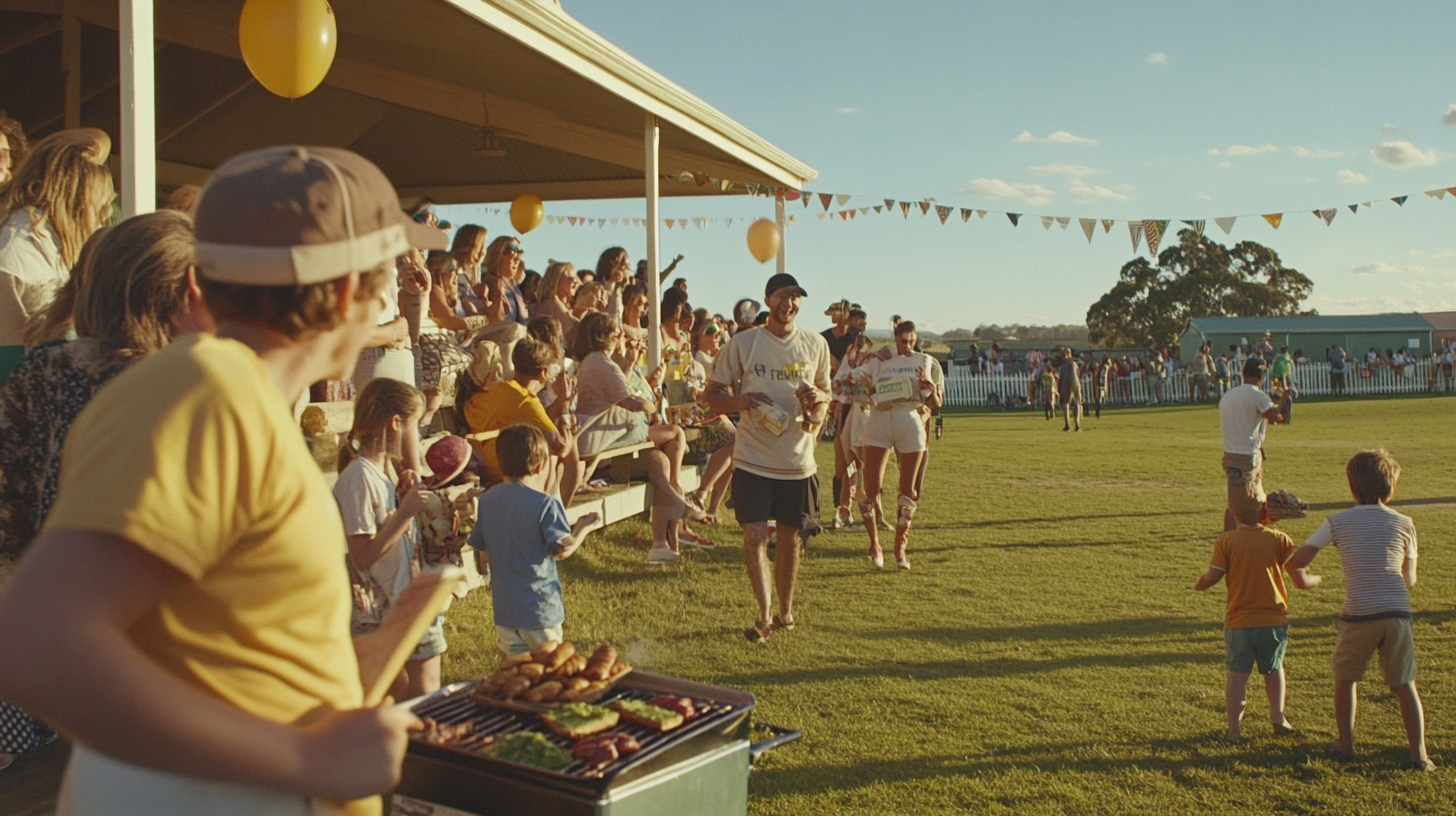
[[[860,367],[874,407],[865,427],[865,498],[859,501],[859,511],[869,533],[869,562],[877,568],[885,561],[879,548],[878,522],[884,516],[879,490],[891,449],[900,455],[895,562],[903,570],[910,568],[906,544],[910,541],[910,523],[920,501],[916,474],[926,450],[926,427],[920,408],[939,408],[942,402],[942,392],[930,379],[930,367],[939,363],[929,354],[914,350],[919,340],[914,323],[910,321],[897,323],[895,353],[881,351]]]

